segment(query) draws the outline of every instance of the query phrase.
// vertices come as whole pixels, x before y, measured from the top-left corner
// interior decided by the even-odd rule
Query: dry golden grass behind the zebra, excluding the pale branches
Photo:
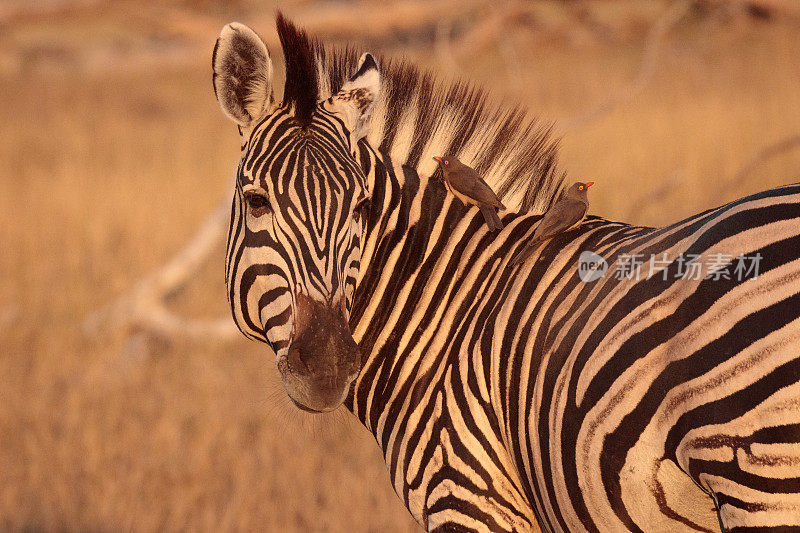
[[[592,211],[625,219],[680,179],[631,220],[662,224],[797,181],[795,150],[719,186],[800,132],[797,29],[681,25],[641,94],[563,140],[571,178],[598,182]],[[516,66],[498,46],[456,69],[545,118],[635,75],[636,42],[534,47],[526,31],[507,36]],[[430,42],[396,47],[431,57]],[[0,79],[0,529],[413,529],[372,437],[292,408],[261,346],[81,332],[230,194],[237,139],[206,60]],[[172,305],[224,313],[222,258]]]

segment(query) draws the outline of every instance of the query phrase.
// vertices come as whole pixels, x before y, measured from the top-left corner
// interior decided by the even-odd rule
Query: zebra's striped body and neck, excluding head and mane
[[[509,259],[540,217],[504,217],[493,238],[477,209],[435,182],[419,188],[441,198],[431,206],[441,214],[397,230],[409,242],[397,257],[430,249],[415,243],[426,237],[447,251],[415,258],[405,276],[370,255],[364,281],[386,288],[356,299],[354,335],[371,355],[347,404],[415,518],[431,529],[522,531],[536,516],[551,531],[714,531],[713,494],[728,528],[797,524],[800,186],[666,228],[590,217],[520,269]],[[609,263],[760,253],[762,270],[746,282],[685,279],[672,260],[667,279],[659,269],[585,283],[585,250]],[[763,384],[773,373],[782,378]]]

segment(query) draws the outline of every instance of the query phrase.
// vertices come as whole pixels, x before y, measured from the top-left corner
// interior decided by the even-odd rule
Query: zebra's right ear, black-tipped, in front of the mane
[[[336,110],[344,117],[350,128],[351,143],[355,146],[369,133],[369,121],[381,90],[381,75],[378,62],[372,54],[364,54],[358,68],[333,97]]]

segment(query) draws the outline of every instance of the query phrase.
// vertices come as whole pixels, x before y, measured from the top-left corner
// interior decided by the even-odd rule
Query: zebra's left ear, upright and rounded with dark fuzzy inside
[[[211,63],[222,111],[246,129],[272,101],[272,60],[264,41],[244,24],[231,22],[217,38]]]

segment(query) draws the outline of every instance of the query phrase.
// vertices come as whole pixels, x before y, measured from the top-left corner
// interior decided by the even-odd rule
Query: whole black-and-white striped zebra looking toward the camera
[[[242,148],[231,313],[299,408],[372,432],[423,528],[800,528],[800,184],[661,228],[588,216],[514,268],[566,177],[549,127],[280,13],[277,32],[281,100],[249,27],[212,59]],[[500,233],[447,194],[443,154],[503,198]],[[637,256],[654,273],[611,274]],[[746,258],[757,275],[731,275]]]

